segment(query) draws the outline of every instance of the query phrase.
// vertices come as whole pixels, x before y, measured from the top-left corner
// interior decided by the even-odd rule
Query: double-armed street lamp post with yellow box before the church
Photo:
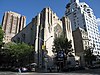
[[[42,45],[42,67],[45,66],[45,72],[47,72],[47,60],[48,58],[45,56],[44,52],[46,52],[46,42],[53,36],[50,36],[49,38],[47,38],[46,40],[38,37],[38,39],[40,39],[41,41],[44,42],[44,44]],[[39,61],[38,61],[39,62]]]

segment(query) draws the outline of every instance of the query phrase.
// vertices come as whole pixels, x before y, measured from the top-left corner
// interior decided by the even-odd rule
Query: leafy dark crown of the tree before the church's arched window
[[[53,52],[57,53],[59,50],[64,51],[66,55],[69,52],[71,52],[72,51],[71,40],[68,41],[68,39],[63,35],[61,35],[60,37],[56,37],[54,39]]]

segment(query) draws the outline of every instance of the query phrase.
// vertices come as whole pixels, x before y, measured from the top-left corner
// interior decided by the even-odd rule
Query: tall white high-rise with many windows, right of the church
[[[78,27],[83,28],[88,33],[89,46],[93,47],[95,55],[100,54],[99,30],[93,10],[85,2],[70,0],[66,6],[66,16],[71,20],[72,30]]]

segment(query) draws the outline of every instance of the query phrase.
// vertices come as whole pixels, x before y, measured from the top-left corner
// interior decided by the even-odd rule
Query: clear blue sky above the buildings
[[[14,11],[26,16],[28,24],[44,7],[51,7],[61,18],[65,13],[65,6],[70,0],[0,0],[0,23],[5,11]],[[80,0],[86,2],[100,18],[100,0]]]

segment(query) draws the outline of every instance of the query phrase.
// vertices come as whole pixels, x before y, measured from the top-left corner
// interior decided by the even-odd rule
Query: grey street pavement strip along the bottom
[[[80,70],[66,73],[18,73],[18,72],[0,72],[0,75],[100,75],[100,69]]]

